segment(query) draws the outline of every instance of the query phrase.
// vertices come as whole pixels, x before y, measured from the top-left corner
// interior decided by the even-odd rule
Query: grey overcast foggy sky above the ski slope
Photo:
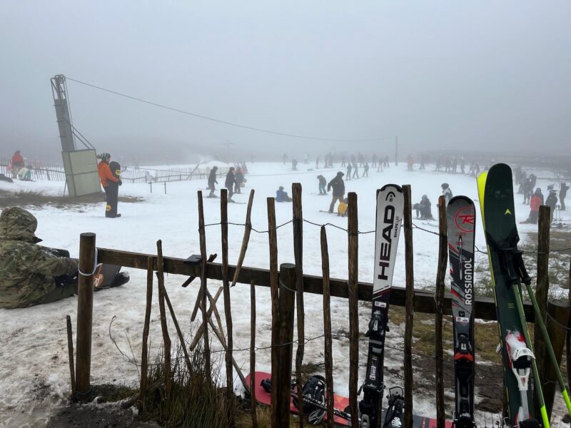
[[[130,158],[242,149],[569,152],[570,1],[0,2],[2,155],[60,159],[50,78],[74,125]],[[34,153],[34,154],[32,154]],[[54,156],[55,155],[55,156]],[[161,158],[161,159],[159,159]]]

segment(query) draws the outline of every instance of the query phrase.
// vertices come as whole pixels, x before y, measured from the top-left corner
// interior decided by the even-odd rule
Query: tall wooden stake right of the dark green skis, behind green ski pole
[[[550,208],[547,205],[540,206],[539,219],[537,221],[537,285],[535,288],[535,298],[537,299],[537,305],[540,308],[541,316],[543,322],[547,325],[547,315],[545,311],[547,310],[547,292],[549,291],[549,239],[550,239]],[[540,374],[540,379],[542,379],[542,389],[543,398],[545,399],[545,409],[547,410],[547,415],[551,415],[551,409],[553,407],[553,395],[555,389],[552,387],[550,382],[546,381],[546,368],[548,365],[547,352],[545,352],[545,339],[543,338],[540,326],[535,322],[534,325],[534,340],[533,340],[533,352],[535,354],[535,362],[537,364],[537,370]],[[555,386],[555,384],[553,384]],[[539,414],[539,405],[537,399],[537,393],[534,389],[534,406],[536,408],[536,414]]]

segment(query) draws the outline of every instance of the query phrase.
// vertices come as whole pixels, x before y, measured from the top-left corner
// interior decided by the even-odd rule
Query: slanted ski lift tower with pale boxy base
[[[51,93],[54,96],[68,193],[72,198],[101,193],[95,148],[76,130],[71,121],[66,76],[57,74],[51,78]],[[76,139],[86,148],[78,150]]]

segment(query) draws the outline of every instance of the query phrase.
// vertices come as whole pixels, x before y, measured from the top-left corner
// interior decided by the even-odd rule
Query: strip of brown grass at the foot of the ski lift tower
[[[138,203],[144,199],[133,196],[119,196],[118,201],[121,203]],[[31,190],[21,190],[19,192],[10,192],[8,190],[0,190],[0,208],[12,206],[17,207],[44,207],[46,205],[56,208],[74,208],[83,205],[95,205],[105,201],[103,193],[95,195],[79,196],[78,198],[70,198],[69,196],[45,195],[42,192],[34,192]]]

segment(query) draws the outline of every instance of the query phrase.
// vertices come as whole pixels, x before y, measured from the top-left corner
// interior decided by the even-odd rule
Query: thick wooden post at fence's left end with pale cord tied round
[[[77,286],[76,391],[78,398],[91,392],[91,332],[94,315],[95,233],[79,236],[79,275]]]

